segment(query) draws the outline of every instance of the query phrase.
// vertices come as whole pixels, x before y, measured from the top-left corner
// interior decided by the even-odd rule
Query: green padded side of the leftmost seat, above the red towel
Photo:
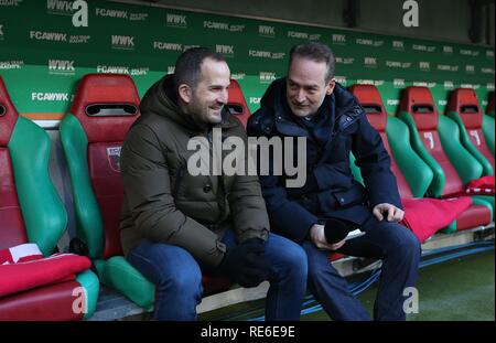
[[[53,253],[67,225],[67,213],[50,178],[50,137],[19,117],[8,148],[28,240],[44,256]]]

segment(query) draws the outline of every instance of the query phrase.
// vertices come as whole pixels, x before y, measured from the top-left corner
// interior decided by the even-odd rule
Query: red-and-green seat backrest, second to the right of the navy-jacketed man
[[[433,195],[449,196],[464,192],[464,182],[457,173],[462,168],[459,170],[454,168],[452,163],[454,159],[457,159],[456,162],[460,162],[459,164],[465,163],[466,175],[481,176],[482,167],[463,149],[456,125],[451,119],[439,116],[429,88],[407,87],[402,94],[399,110],[399,117],[410,128],[412,146],[434,172],[433,189],[431,190]],[[444,131],[450,130],[450,132],[444,132],[445,139],[443,142],[440,137],[441,124],[443,127],[449,127]],[[452,143],[450,148],[455,148],[453,153],[450,154],[452,160],[450,160],[443,148],[443,143],[445,144],[446,142]],[[460,154],[463,153],[463,157],[455,157],[459,152]]]

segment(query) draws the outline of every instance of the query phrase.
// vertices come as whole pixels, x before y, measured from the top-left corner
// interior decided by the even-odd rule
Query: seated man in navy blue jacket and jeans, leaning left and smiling
[[[370,320],[328,262],[330,251],[338,251],[382,260],[374,319],[405,320],[408,287],[418,277],[420,243],[398,224],[403,211],[380,136],[355,97],[334,81],[334,69],[335,57],[326,45],[294,46],[288,76],[270,85],[261,108],[249,119],[248,136],[306,138],[304,186],[288,187],[290,175],[278,175],[273,165],[269,175],[260,174],[271,227],[305,249],[310,288],[331,318]],[[353,178],[351,152],[365,186]],[[359,227],[365,235],[332,240],[343,227]]]

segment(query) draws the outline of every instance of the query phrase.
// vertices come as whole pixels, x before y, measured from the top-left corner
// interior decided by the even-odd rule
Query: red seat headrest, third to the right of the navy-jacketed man
[[[453,90],[448,101],[446,111],[459,112],[463,125],[467,129],[482,127],[482,111],[477,95],[471,88],[457,88]]]

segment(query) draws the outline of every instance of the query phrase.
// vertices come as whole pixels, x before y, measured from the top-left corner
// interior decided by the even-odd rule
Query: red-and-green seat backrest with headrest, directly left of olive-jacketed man
[[[77,236],[91,258],[122,255],[120,149],[139,117],[140,98],[128,75],[88,74],[77,86],[61,140],[73,187]]]

